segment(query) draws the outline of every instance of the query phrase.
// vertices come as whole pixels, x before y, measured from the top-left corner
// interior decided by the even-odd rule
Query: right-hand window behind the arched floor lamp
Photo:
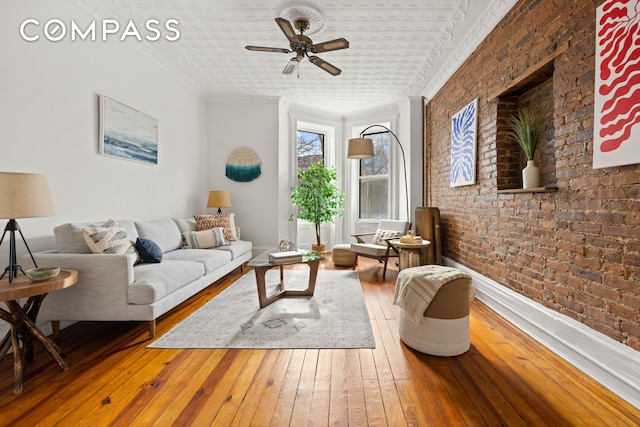
[[[365,134],[373,157],[360,160],[360,218],[389,218],[389,132]]]

